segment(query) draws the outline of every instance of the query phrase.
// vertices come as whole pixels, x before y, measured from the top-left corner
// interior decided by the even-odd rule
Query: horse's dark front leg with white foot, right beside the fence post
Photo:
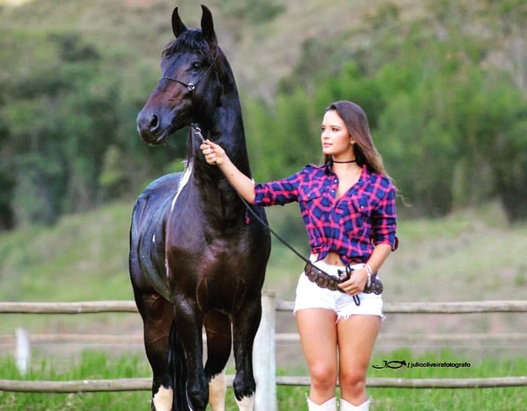
[[[252,411],[256,381],[252,371],[252,345],[261,318],[261,296],[247,299],[233,316],[232,335],[236,376],[233,383],[236,403],[240,411]]]

